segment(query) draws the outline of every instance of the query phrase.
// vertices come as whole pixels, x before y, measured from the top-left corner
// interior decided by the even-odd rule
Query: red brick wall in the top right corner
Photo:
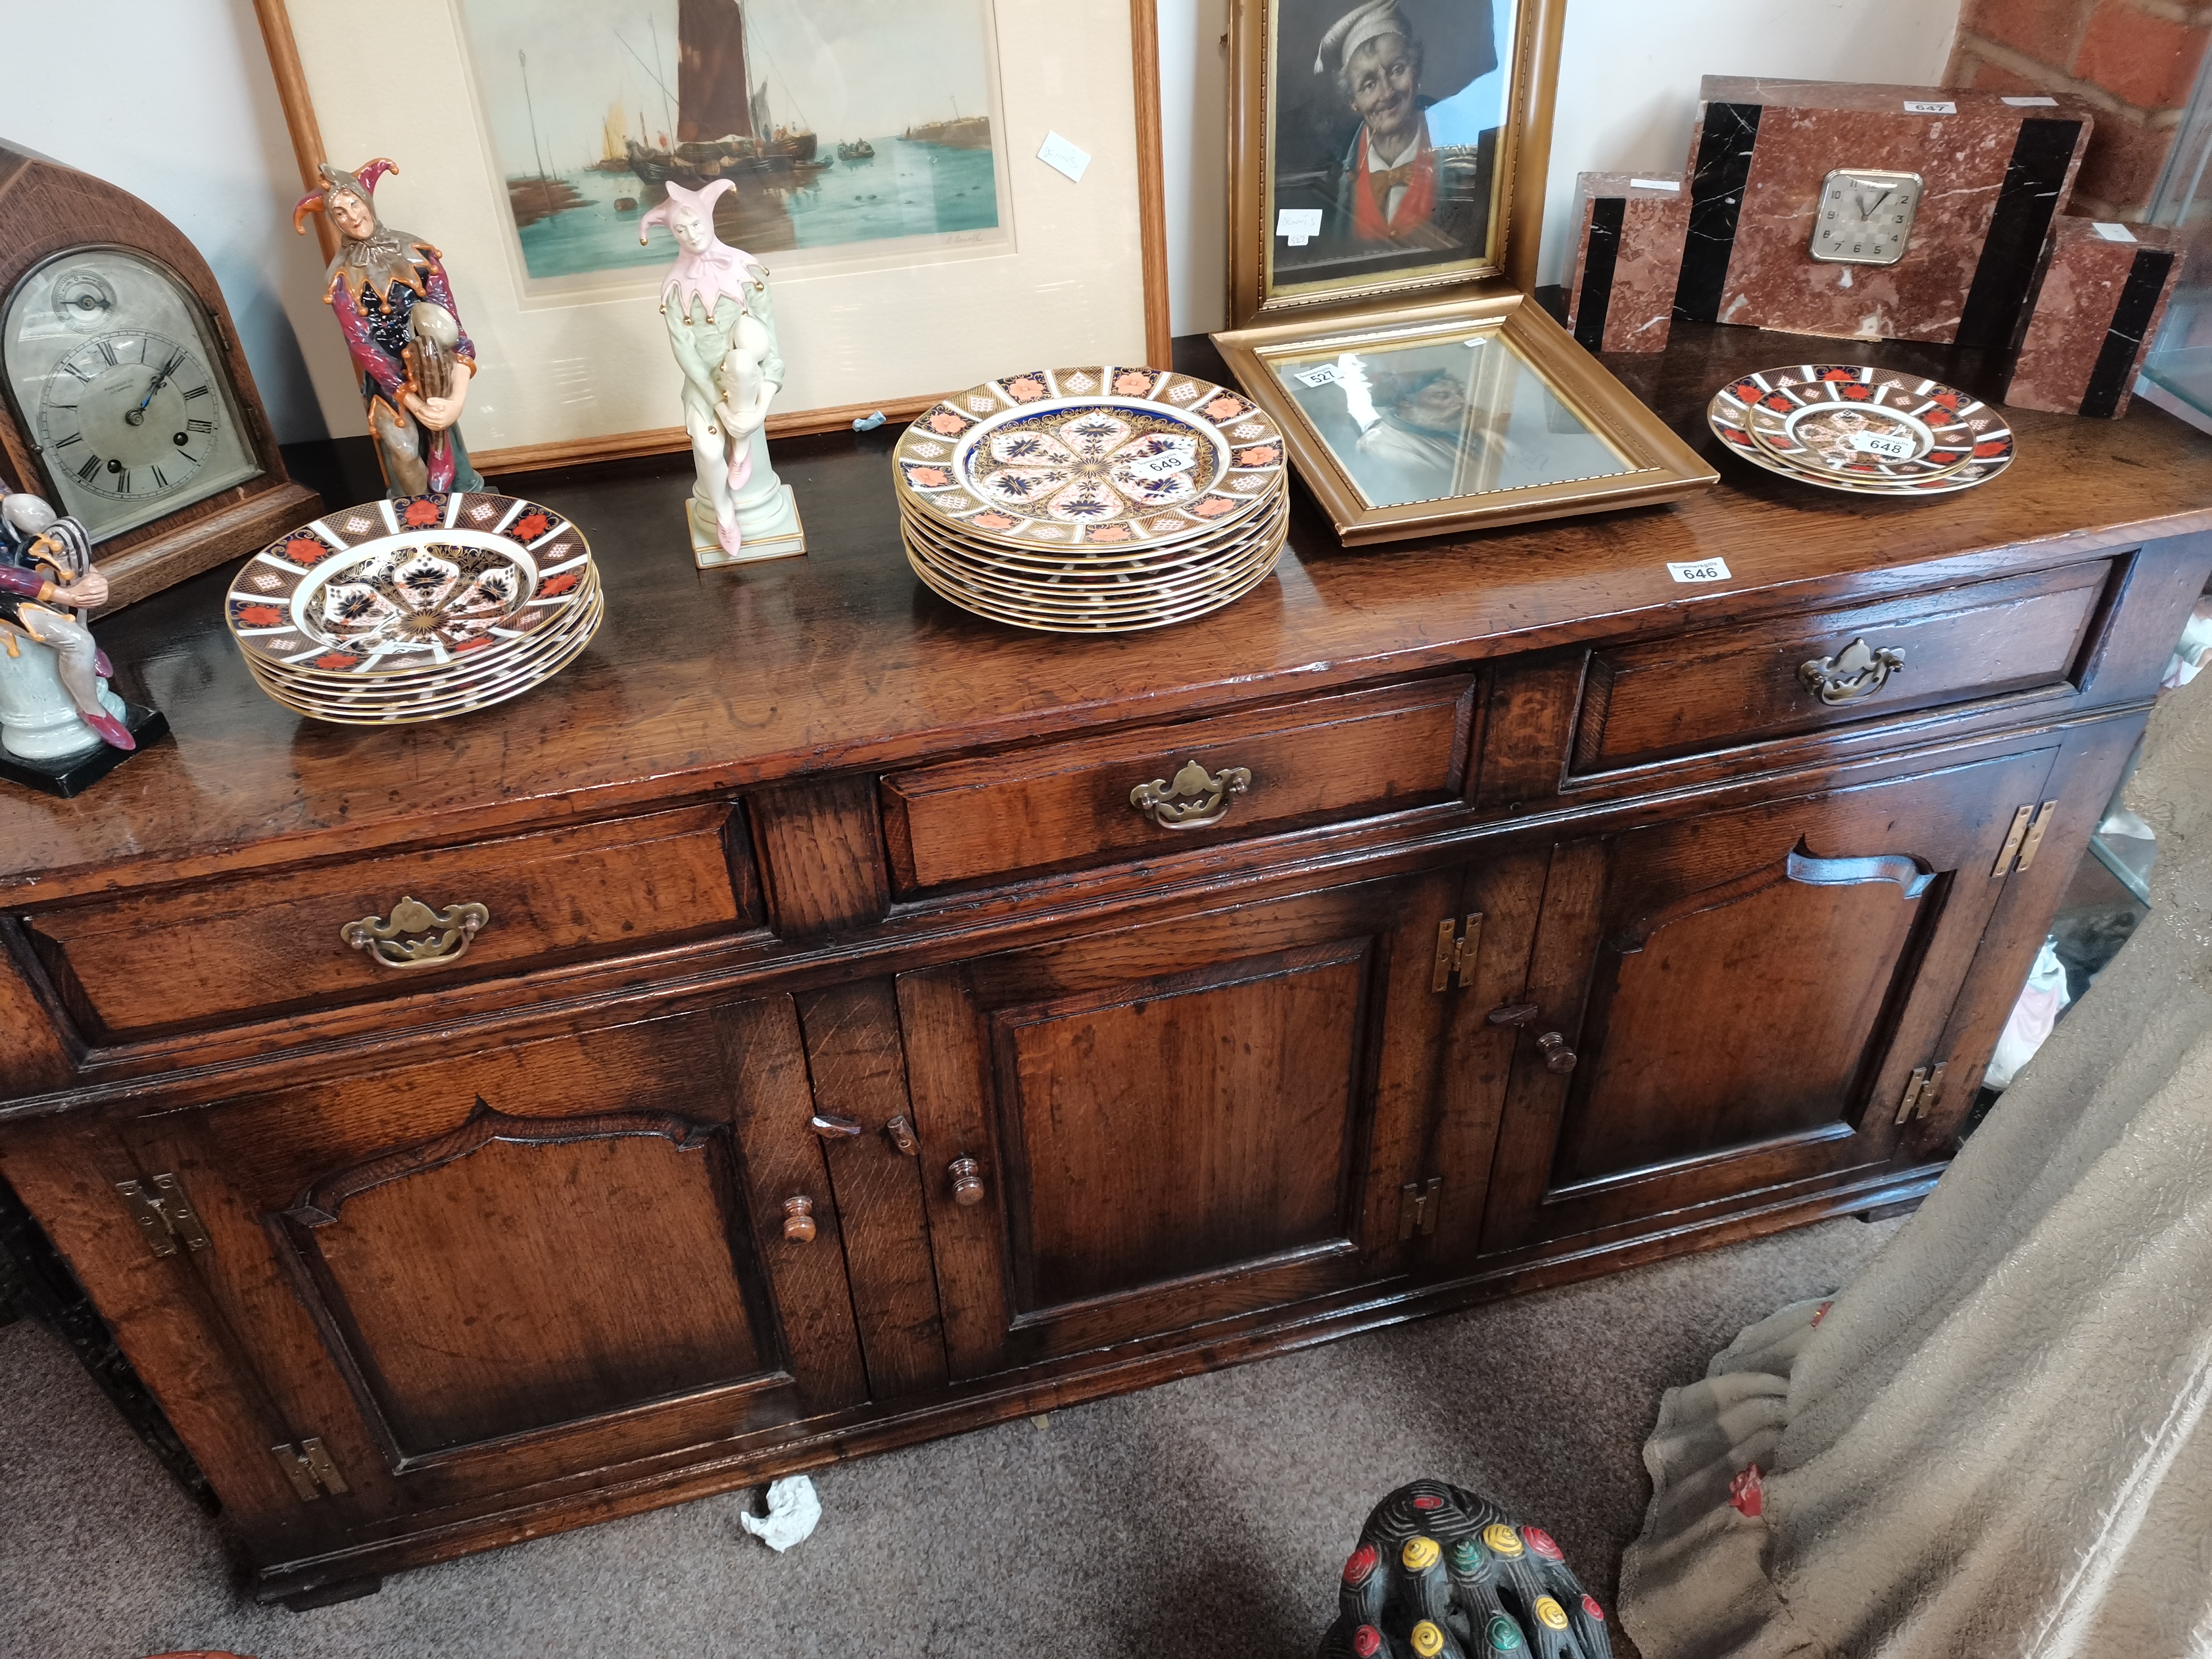
[[[2141,221],[2212,38],[2212,4],[1966,0],[1947,84],[2097,108],[2068,212]]]

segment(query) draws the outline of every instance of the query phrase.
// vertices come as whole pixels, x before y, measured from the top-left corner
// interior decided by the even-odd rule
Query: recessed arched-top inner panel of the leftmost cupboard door
[[[478,1104],[458,1133],[319,1183],[281,1234],[405,1458],[787,1383],[732,1252],[726,1141],[675,1115]]]

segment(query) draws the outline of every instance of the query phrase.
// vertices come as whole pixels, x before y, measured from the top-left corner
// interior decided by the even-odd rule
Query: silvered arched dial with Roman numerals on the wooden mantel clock
[[[77,248],[31,270],[0,356],[55,507],[95,542],[261,473],[206,314],[142,254]]]

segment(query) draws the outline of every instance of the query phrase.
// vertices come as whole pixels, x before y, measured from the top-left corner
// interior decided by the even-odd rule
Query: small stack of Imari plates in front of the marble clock
[[[2013,465],[2013,434],[1986,403],[1898,369],[1798,363],[1747,374],[1705,407],[1745,460],[1854,495],[1938,495]]]

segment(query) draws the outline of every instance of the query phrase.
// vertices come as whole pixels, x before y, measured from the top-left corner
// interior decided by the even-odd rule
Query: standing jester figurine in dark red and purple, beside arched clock
[[[369,436],[398,500],[447,489],[482,489],[460,442],[460,407],[476,376],[476,345],[460,327],[453,283],[438,250],[387,230],[376,217],[376,181],[398,168],[378,157],[356,173],[323,166],[323,188],[292,208],[292,230],[327,212],[345,239],[330,261],[323,303],[338,316],[345,349],[369,405]]]

